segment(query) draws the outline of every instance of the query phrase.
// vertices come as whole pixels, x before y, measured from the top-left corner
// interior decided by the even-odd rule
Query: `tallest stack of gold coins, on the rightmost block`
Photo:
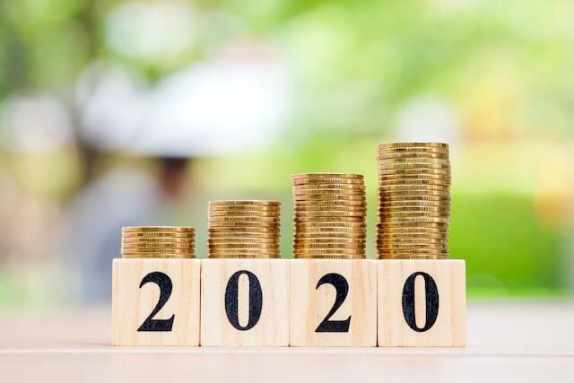
[[[378,257],[448,258],[448,144],[378,145]]]

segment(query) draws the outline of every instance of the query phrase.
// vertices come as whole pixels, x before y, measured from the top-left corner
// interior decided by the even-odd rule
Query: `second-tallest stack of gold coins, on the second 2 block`
[[[367,200],[360,174],[292,176],[296,258],[364,258]]]

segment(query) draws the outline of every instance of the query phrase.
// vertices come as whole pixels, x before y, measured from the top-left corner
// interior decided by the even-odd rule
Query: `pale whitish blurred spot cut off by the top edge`
[[[127,57],[162,61],[183,55],[193,44],[194,17],[176,1],[118,4],[106,22],[109,46]]]

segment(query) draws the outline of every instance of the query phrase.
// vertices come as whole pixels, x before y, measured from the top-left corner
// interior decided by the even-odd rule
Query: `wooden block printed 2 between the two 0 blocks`
[[[290,262],[291,346],[377,345],[377,261]]]

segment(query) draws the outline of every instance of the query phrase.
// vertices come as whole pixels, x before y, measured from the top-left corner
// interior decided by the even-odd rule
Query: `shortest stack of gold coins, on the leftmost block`
[[[178,226],[122,228],[124,258],[194,258],[196,230]]]

